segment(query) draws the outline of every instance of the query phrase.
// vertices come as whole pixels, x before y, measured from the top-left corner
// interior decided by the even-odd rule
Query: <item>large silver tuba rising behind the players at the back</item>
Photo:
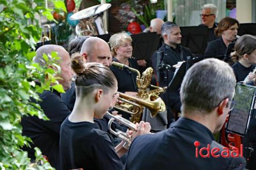
[[[103,12],[111,7],[111,4],[95,5],[70,16],[71,20],[79,19],[76,25],[77,36],[107,34],[103,25]]]

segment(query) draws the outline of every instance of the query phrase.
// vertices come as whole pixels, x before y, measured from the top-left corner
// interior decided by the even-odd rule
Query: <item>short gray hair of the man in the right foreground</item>
[[[218,59],[205,59],[186,72],[181,84],[181,111],[208,114],[221,101],[233,98],[236,77],[232,68]]]

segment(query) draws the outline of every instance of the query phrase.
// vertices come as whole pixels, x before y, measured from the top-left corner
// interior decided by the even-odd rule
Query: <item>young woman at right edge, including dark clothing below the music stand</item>
[[[252,35],[241,36],[234,45],[234,50],[231,56],[236,63],[232,65],[232,68],[237,82],[244,81],[248,76],[248,84],[255,86],[256,75],[250,72],[255,69],[256,64],[256,37]],[[246,168],[256,169],[256,120],[254,118],[250,118],[248,131],[242,142],[244,144],[244,156],[247,160]],[[252,148],[254,151],[250,153],[250,150],[246,148]]]

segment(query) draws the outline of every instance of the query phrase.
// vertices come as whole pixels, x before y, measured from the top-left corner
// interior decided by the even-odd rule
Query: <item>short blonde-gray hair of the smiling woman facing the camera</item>
[[[119,47],[120,45],[122,45],[122,43],[129,41],[132,42],[133,39],[130,35],[128,35],[125,32],[113,34],[110,37],[110,50],[113,54],[113,57],[116,55],[115,47]]]

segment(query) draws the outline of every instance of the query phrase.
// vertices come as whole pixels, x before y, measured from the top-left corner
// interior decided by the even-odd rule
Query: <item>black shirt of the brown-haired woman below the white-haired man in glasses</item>
[[[219,55],[225,55],[227,51],[227,46],[224,43],[222,37],[214,40],[214,41],[210,41],[206,47],[206,50],[204,52],[204,55],[206,56],[219,56]]]

